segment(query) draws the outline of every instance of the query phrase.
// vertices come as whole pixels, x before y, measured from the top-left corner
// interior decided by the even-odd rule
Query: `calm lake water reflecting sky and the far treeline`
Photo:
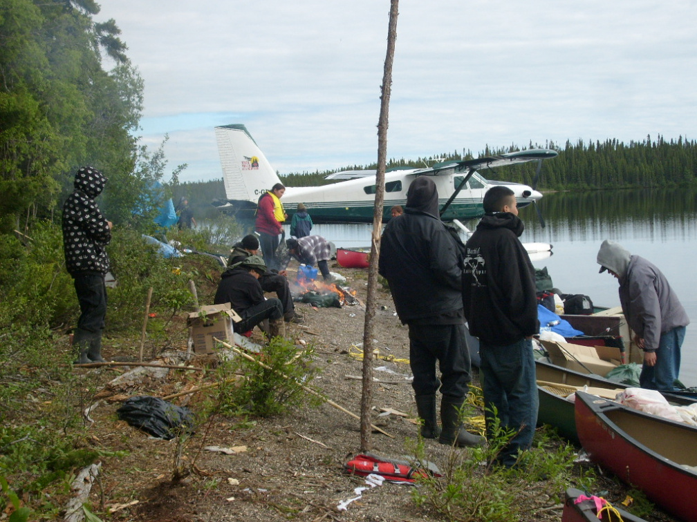
[[[661,269],[692,321],[682,345],[680,379],[697,386],[697,189],[549,193],[539,208],[546,228],[533,207],[521,209],[526,223],[521,240],[553,245],[553,255],[533,264],[547,267],[565,294],[586,294],[597,306],[619,306],[617,280],[598,274],[595,262],[604,239],[620,242]],[[473,230],[476,224],[466,226]],[[312,232],[336,246],[367,247],[372,225],[316,225]]]

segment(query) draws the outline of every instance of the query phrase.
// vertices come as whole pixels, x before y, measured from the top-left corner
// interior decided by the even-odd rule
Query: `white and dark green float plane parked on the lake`
[[[279,177],[244,125],[215,127],[215,137],[227,196],[227,201],[218,208],[240,219],[249,219],[256,210],[259,196],[279,183]],[[539,173],[542,160],[556,155],[556,151],[549,149],[522,150],[478,159],[445,161],[427,168],[388,171],[385,173],[383,221],[391,219],[390,207],[406,205],[406,191],[418,176],[433,176],[438,194],[445,196],[440,200],[443,221],[458,224],[459,220],[483,216],[484,193],[498,184],[510,187],[516,195],[518,207],[526,207],[542,198],[542,194],[525,184],[486,180],[477,173],[477,168],[537,161]],[[328,179],[342,181],[321,187],[286,187],[282,202],[289,217],[296,212],[298,203],[304,203],[314,223],[372,223],[375,171],[344,171],[329,175]]]

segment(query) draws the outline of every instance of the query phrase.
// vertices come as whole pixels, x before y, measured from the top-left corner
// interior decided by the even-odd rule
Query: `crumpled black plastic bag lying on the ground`
[[[131,426],[167,441],[181,431],[193,432],[194,418],[191,410],[171,404],[160,397],[131,397],[116,410],[116,414]]]

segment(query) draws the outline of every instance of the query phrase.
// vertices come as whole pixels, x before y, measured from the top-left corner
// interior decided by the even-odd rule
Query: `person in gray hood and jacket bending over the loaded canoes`
[[[680,349],[690,320],[663,273],[648,260],[631,255],[606,239],[597,255],[600,273],[620,282],[620,304],[634,342],[644,351],[642,388],[672,391],[680,374]]]

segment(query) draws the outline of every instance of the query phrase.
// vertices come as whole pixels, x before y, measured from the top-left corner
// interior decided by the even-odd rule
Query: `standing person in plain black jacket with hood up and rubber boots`
[[[388,280],[397,315],[409,328],[412,387],[424,438],[448,445],[476,446],[484,438],[460,421],[470,382],[462,310],[462,256],[438,214],[438,191],[430,177],[416,178],[406,209],[383,231],[378,271]],[[436,361],[441,379],[436,375]],[[441,390],[441,422],[436,392]]]

